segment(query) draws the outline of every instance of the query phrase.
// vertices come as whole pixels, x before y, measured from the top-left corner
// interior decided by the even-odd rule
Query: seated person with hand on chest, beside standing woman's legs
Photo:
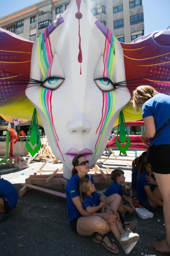
[[[139,167],[136,190],[139,203],[147,210],[154,211],[157,206],[163,206],[162,196],[157,187],[151,165],[146,163],[145,158]]]

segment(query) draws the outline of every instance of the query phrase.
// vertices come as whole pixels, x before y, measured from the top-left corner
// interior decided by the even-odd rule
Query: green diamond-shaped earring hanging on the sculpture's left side
[[[30,138],[29,138],[29,136],[30,136]],[[33,116],[32,116],[31,124],[29,127],[29,132],[28,132],[26,143],[25,143],[25,147],[28,149],[28,151],[32,155],[32,157],[37,153],[37,151],[41,147],[40,132],[39,132],[36,108],[33,111]]]

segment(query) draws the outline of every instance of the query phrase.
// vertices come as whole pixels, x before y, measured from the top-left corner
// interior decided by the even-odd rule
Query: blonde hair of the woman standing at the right
[[[131,101],[133,103],[134,109],[139,111],[138,101],[140,100],[147,101],[157,93],[158,93],[157,90],[155,90],[153,87],[149,85],[138,86],[137,89],[133,91],[133,98]]]

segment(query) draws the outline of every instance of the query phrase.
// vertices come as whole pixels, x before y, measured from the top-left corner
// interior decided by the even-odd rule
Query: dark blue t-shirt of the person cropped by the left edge
[[[10,206],[11,210],[16,207],[18,194],[14,185],[11,182],[0,179],[0,197],[8,200],[8,206]]]

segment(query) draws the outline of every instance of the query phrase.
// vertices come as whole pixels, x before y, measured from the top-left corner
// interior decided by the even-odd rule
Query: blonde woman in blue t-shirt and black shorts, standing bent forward
[[[166,228],[165,239],[153,241],[152,246],[170,255],[170,96],[158,93],[151,86],[138,86],[133,92],[133,106],[137,111],[139,105],[142,105],[145,138],[150,140],[149,162],[163,199]],[[161,132],[157,135],[158,131]]]

